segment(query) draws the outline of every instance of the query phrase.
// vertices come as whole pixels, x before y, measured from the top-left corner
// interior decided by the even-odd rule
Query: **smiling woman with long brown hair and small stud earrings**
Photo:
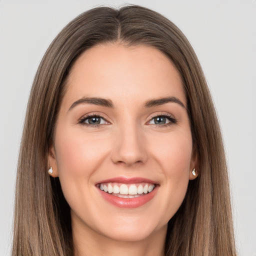
[[[16,182],[13,255],[117,253],[235,255],[200,64],[173,23],[134,5],[84,12],[53,40]]]

